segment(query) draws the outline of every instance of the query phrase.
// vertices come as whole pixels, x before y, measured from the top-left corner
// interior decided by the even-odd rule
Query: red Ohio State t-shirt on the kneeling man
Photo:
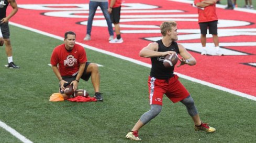
[[[87,61],[84,47],[75,44],[71,51],[66,50],[65,44],[59,45],[53,49],[51,55],[51,64],[57,66],[61,76],[72,76],[79,70],[80,63]]]

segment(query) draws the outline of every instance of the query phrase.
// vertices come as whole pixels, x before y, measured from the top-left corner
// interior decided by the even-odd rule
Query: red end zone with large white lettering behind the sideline
[[[192,1],[190,1],[192,3]],[[178,23],[179,40],[196,58],[196,66],[182,66],[175,71],[256,96],[256,15],[251,12],[217,8],[218,35],[221,50],[226,56],[201,56],[197,9],[190,4],[160,0],[125,1],[121,10],[121,36],[124,43],[109,44],[106,21],[101,10],[93,21],[92,40],[83,41],[88,17],[87,1],[17,1],[18,13],[12,22],[63,37],[65,31],[77,34],[77,42],[111,51],[129,58],[150,63],[139,57],[139,51],[161,38],[162,21]],[[31,4],[33,3],[33,4]],[[44,3],[44,4],[43,4]],[[8,11],[11,8],[8,8]],[[245,9],[246,10],[246,9]],[[9,12],[8,12],[9,13]],[[207,46],[213,48],[210,35]]]

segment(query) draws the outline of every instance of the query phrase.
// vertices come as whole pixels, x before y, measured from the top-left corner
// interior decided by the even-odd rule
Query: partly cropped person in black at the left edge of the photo
[[[10,30],[9,30],[9,19],[12,18],[18,11],[18,6],[15,0],[2,0],[0,4],[0,28],[4,38],[5,51],[8,59],[8,64],[5,65],[10,69],[19,69],[19,67],[13,62],[13,48],[10,44]],[[12,6],[13,10],[6,17],[6,9],[8,5]]]

